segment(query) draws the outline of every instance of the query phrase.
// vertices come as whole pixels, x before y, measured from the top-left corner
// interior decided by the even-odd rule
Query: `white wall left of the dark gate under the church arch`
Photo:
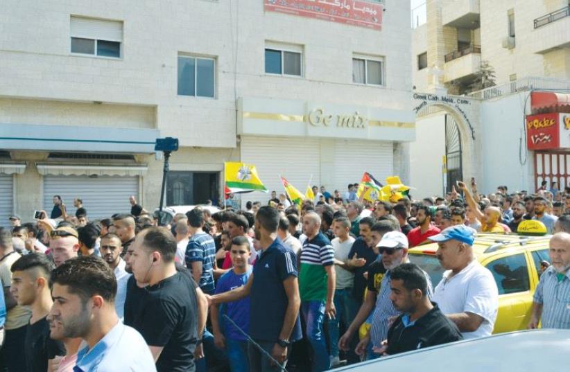
[[[415,199],[442,195],[442,157],[445,155],[445,116],[419,118],[416,141],[410,143],[410,186]]]

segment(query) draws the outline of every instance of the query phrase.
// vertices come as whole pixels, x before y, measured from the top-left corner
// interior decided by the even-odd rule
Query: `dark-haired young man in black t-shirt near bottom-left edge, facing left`
[[[62,342],[49,337],[49,323],[46,320],[53,303],[49,290],[52,268],[51,260],[45,254],[37,253],[21,256],[10,268],[12,271],[10,292],[18,305],[30,306],[32,310],[24,338],[24,356],[28,372],[51,371],[55,356],[65,355]]]

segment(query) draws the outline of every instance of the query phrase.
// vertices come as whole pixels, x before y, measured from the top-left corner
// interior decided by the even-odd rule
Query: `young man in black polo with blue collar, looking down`
[[[425,272],[403,263],[390,272],[390,300],[401,312],[388,329],[386,344],[374,353],[394,355],[463,339],[457,326],[429,299]]]

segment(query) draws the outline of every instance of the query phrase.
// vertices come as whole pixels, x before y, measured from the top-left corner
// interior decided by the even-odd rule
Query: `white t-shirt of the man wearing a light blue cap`
[[[450,274],[451,270],[443,273],[443,278],[435,287],[431,300],[438,303],[444,314],[472,312],[485,319],[476,331],[462,332],[463,338],[472,339],[491,335],[496,312],[499,310],[499,290],[493,274],[477,260],[473,260],[451,278]]]

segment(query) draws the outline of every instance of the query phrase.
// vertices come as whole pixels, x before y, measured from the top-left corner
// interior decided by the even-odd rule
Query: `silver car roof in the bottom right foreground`
[[[570,330],[522,330],[408,351],[335,371],[567,370]]]

